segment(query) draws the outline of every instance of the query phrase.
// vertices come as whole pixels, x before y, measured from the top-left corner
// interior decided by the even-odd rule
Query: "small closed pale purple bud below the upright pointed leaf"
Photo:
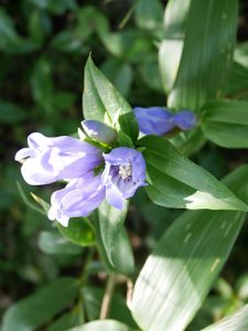
[[[83,120],[82,127],[86,136],[93,140],[107,145],[112,145],[117,140],[117,131],[101,121]]]

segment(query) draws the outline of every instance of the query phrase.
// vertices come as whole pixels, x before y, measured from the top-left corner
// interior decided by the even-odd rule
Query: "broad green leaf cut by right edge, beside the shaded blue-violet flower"
[[[207,139],[222,147],[248,148],[248,102],[208,103],[202,110]]]

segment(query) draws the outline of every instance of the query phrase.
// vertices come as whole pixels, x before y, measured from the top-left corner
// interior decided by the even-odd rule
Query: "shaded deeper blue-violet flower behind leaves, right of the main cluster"
[[[195,115],[190,110],[172,114],[162,107],[136,107],[133,111],[139,129],[144,135],[163,136],[174,128],[188,130],[196,125]]]

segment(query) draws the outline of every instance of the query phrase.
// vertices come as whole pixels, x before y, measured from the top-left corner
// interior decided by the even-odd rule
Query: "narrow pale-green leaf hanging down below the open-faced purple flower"
[[[107,202],[98,207],[95,215],[95,227],[99,253],[110,273],[131,275],[134,270],[132,248],[123,227],[128,204],[123,211],[117,210]]]

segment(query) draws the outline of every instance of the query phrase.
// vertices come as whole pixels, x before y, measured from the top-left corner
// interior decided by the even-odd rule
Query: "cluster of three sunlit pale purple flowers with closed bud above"
[[[104,136],[95,135],[96,125],[86,122],[84,127],[90,127],[88,134],[97,136],[101,142],[108,142],[107,137],[114,139],[112,129],[107,126]],[[79,139],[47,138],[37,132],[28,137],[28,145],[29,148],[18,151],[15,160],[23,161],[21,172],[29,184],[67,182],[64,189],[52,194],[48,210],[48,218],[57,220],[64,226],[68,225],[69,217],[88,215],[104,199],[121,210],[125,200],[145,185],[145,162],[136,149],[118,147],[104,153],[100,148]],[[100,173],[99,169],[103,169]]]

